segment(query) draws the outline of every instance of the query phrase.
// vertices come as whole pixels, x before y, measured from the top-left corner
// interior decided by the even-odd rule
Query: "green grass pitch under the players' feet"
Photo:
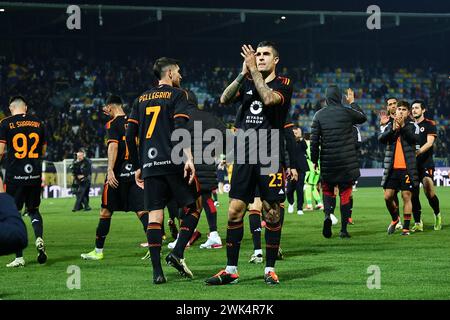
[[[245,219],[244,240],[240,254],[240,283],[208,287],[204,279],[212,276],[226,263],[225,248],[201,250],[206,240],[207,223],[202,213],[201,239],[186,251],[186,262],[194,280],[182,279],[175,269],[163,265],[168,282],[153,285],[149,261],[141,260],[146,241],[141,224],[132,213],[116,213],[105,243],[105,259],[83,261],[80,253],[94,247],[100,199],[93,198],[93,211],[72,213],[74,199],[44,200],[44,239],[48,262],[36,262],[34,235],[25,218],[30,242],[24,252],[27,265],[7,269],[13,256],[0,257],[0,299],[449,299],[450,298],[450,188],[438,188],[443,229],[433,230],[433,214],[421,195],[425,231],[388,236],[390,218],[384,205],[381,188],[360,188],[354,193],[354,221],[349,226],[351,239],[321,234],[323,213],[305,212],[304,216],[286,213],[281,245],[285,260],[277,262],[281,284],[270,287],[263,282],[264,265],[250,265],[252,241]],[[220,198],[219,233],[225,242],[228,197]],[[338,212],[337,212],[338,213]],[[339,214],[337,214],[340,218]],[[264,242],[263,242],[264,244]],[[162,257],[168,253],[167,242]],[[69,290],[69,266],[81,270],[81,288]],[[381,288],[368,289],[372,275],[368,267],[381,271]]]

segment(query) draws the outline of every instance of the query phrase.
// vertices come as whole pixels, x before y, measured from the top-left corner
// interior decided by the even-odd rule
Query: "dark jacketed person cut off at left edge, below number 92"
[[[16,253],[28,244],[27,229],[14,199],[5,193],[0,177],[0,256]]]

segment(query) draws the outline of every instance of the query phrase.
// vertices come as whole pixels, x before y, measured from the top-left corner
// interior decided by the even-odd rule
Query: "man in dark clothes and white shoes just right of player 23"
[[[294,158],[291,159],[291,163],[294,165],[294,169],[297,170],[298,179],[289,180],[287,183],[286,197],[289,203],[288,212],[294,212],[294,192],[297,193],[297,214],[303,214],[303,187],[305,185],[306,172],[309,171],[308,163],[306,160],[306,149],[308,145],[303,139],[302,129],[294,127],[292,129],[295,136],[294,144]]]

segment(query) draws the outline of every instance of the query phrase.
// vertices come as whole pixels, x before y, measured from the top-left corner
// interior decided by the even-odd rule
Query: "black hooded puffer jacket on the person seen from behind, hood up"
[[[311,160],[318,163],[322,180],[328,183],[349,182],[359,176],[359,162],[353,125],[367,120],[362,109],[352,103],[345,107],[337,86],[326,91],[327,106],[319,110],[311,127]]]

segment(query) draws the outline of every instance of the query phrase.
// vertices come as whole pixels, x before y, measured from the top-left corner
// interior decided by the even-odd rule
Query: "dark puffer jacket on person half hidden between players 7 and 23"
[[[194,99],[192,97],[192,92],[188,92],[188,97],[192,103],[195,104],[195,108],[192,108],[190,110],[189,116],[189,123],[187,125],[187,129],[191,132],[192,137],[192,155],[194,156],[194,164],[195,164],[195,171],[197,178],[200,182],[200,188],[201,191],[211,191],[217,188],[217,174],[216,174],[216,164],[206,164],[205,159],[203,159],[202,163],[197,163],[197,160],[195,159],[195,150],[201,150],[202,156],[203,151],[205,150],[205,147],[207,147],[209,144],[211,144],[210,141],[203,141],[203,139],[198,139],[198,141],[195,139],[194,135],[194,121],[201,122],[201,137],[203,137],[203,134],[208,129],[216,129],[219,130],[222,134],[222,138],[225,139],[225,131],[226,126],[223,122],[221,122],[219,119],[214,117],[211,113],[206,111],[198,110],[197,107],[197,98]],[[197,124],[198,125],[198,124]],[[198,133],[197,133],[198,135]],[[225,144],[223,144],[225,146]],[[220,155],[214,155],[216,158],[218,158]]]

